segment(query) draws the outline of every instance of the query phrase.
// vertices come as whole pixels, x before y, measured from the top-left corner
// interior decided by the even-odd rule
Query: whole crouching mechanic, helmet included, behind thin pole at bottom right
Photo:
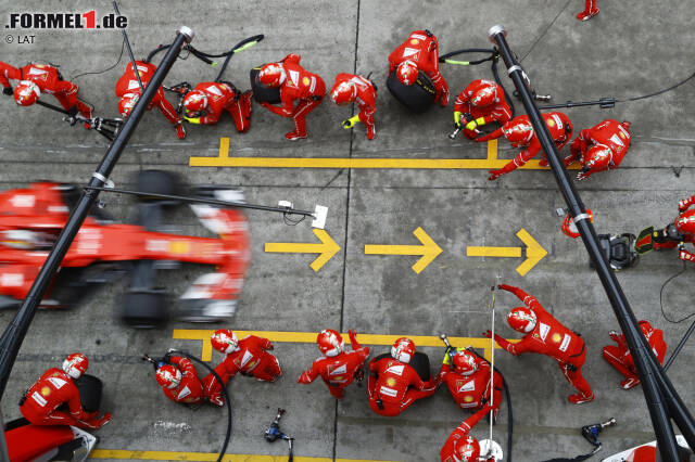
[[[462,409],[493,409],[493,419],[502,403],[502,375],[494,373],[492,408],[490,408],[490,363],[472,352],[457,348],[444,355],[438,378],[445,383],[452,398]]]

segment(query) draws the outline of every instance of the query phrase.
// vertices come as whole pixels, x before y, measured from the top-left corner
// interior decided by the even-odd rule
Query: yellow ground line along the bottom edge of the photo
[[[174,452],[174,451],[130,451],[122,449],[94,449],[89,454],[90,459],[126,459],[147,461],[216,461],[217,453],[213,452]],[[287,455],[258,455],[258,454],[226,454],[225,462],[286,462]],[[309,458],[294,455],[294,462],[332,462],[331,458]],[[336,459],[337,462],[389,462],[364,459]]]

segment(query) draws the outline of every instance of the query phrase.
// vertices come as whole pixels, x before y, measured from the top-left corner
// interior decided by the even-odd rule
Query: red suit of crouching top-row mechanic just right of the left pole
[[[222,113],[227,111],[235,119],[235,125],[239,133],[249,130],[252,107],[251,91],[242,94],[228,84],[216,81],[202,81],[198,84],[193,90],[202,91],[207,98],[205,115],[197,118],[198,123],[203,125],[217,124]]]

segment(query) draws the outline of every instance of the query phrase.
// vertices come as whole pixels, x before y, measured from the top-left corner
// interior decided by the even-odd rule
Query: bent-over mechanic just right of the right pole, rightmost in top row
[[[601,124],[579,132],[570,145],[567,167],[574,161],[582,164],[578,180],[585,180],[592,174],[618,168],[630,149],[630,123],[606,119]]]

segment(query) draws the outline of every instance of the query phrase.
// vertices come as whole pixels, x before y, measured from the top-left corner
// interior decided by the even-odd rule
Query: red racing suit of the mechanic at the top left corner
[[[72,81],[63,80],[58,69],[48,64],[27,64],[16,68],[0,62],[0,85],[10,87],[10,79],[30,80],[39,87],[41,93],[55,97],[65,111],[77,107],[83,117],[91,118],[91,107],[77,99],[78,87]]]

